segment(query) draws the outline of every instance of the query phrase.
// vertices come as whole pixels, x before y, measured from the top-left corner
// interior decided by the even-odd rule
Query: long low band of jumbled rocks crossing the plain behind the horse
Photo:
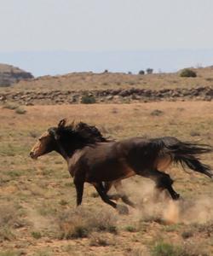
[[[0,93],[0,104],[17,102],[21,105],[55,105],[82,103],[83,98],[93,99],[92,102],[130,103],[159,101],[211,101],[213,87],[199,86],[193,89],[118,89],[118,90],[53,90],[53,91],[20,91]],[[91,102],[91,101],[89,101]],[[87,101],[83,102],[87,103]]]

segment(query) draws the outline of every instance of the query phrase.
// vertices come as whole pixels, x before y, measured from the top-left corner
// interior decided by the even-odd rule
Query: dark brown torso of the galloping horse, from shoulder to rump
[[[152,139],[133,137],[85,147],[73,167],[84,172],[85,181],[89,183],[112,181],[155,168],[158,154],[158,145]]]

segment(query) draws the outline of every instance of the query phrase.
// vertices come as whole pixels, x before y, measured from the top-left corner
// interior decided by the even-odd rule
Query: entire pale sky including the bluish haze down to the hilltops
[[[213,65],[213,0],[0,0],[0,63],[34,75]]]

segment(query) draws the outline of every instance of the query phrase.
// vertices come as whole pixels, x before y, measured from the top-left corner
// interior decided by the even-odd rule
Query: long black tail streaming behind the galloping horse
[[[213,177],[210,166],[204,165],[199,160],[199,154],[213,151],[210,145],[181,142],[175,137],[164,137],[162,143],[164,143],[165,153],[167,152],[172,156],[173,162],[180,163],[183,168],[187,166],[195,172]]]

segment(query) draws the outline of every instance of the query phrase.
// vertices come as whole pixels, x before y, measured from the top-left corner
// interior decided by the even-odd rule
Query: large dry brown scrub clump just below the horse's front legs
[[[94,231],[117,233],[116,221],[111,212],[90,211],[83,207],[61,212],[56,219],[61,239],[88,237]]]

